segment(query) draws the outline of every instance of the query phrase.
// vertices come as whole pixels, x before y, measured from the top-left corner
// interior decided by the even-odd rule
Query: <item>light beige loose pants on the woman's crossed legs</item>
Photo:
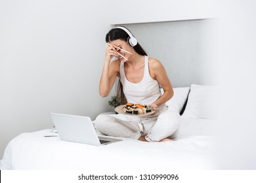
[[[96,117],[95,128],[104,135],[128,137],[146,141],[174,139],[179,131],[181,116],[179,112],[168,110],[167,106],[158,109],[150,116],[133,116],[125,114],[100,114]]]

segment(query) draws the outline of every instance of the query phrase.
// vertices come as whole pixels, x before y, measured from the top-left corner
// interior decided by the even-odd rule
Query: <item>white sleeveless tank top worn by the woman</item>
[[[124,62],[120,64],[120,78],[123,84],[123,93],[128,103],[150,105],[161,96],[160,86],[149,73],[148,56],[144,59],[144,76],[138,83],[129,82],[125,76]]]

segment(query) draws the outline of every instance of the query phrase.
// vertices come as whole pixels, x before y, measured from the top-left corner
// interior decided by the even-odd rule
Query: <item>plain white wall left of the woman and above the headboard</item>
[[[0,158],[16,135],[51,127],[49,112],[112,110],[98,95],[111,24],[213,17],[203,1],[0,1]]]

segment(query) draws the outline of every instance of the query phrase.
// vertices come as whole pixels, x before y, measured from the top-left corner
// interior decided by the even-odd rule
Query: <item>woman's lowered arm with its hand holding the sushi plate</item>
[[[173,97],[173,86],[171,86],[171,82],[166,74],[165,68],[157,59],[150,58],[149,59],[149,68],[150,68],[150,76],[157,80],[161,87],[163,88],[163,95],[158,98],[154,103],[152,103],[153,108],[157,108],[162,105],[166,101],[169,101],[171,97]]]

